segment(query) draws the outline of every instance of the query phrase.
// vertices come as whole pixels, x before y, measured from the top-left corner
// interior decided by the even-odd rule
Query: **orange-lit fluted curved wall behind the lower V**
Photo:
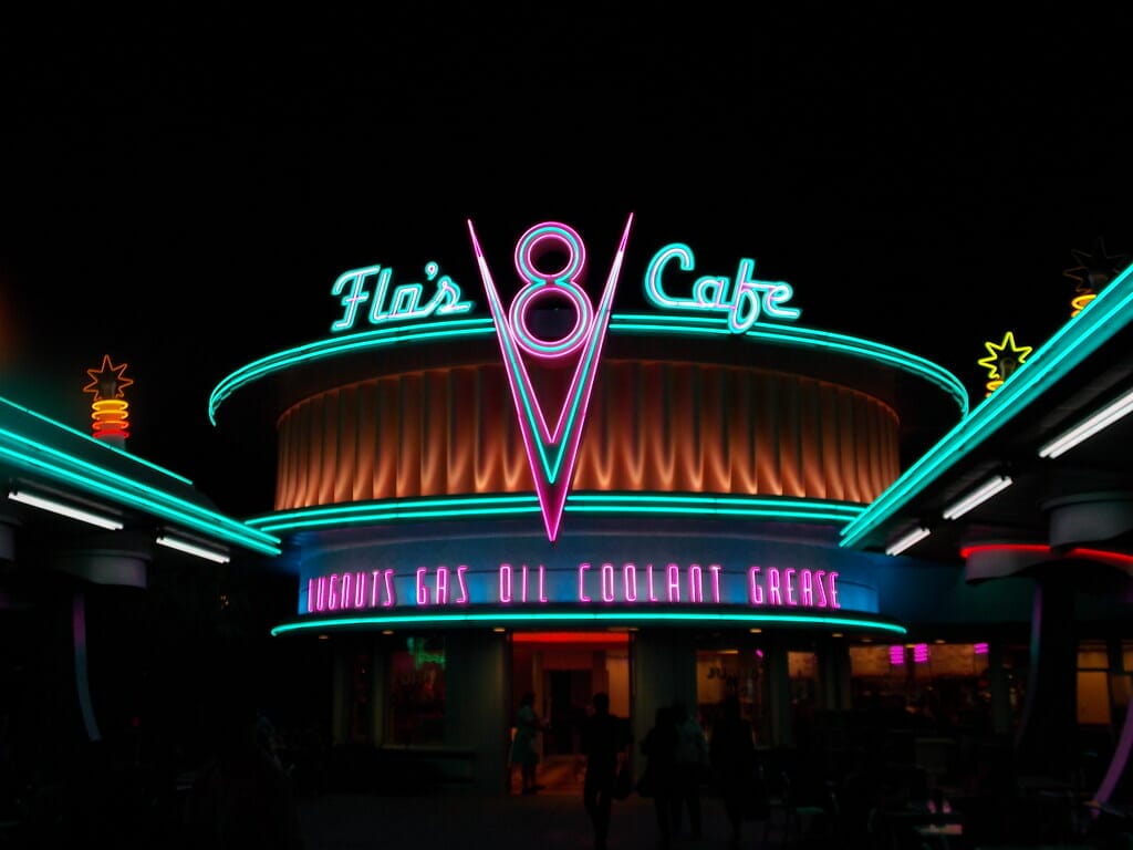
[[[534,490],[501,366],[407,372],[321,392],[279,422],[275,509]],[[741,366],[603,363],[573,490],[866,503],[898,469],[880,400]]]

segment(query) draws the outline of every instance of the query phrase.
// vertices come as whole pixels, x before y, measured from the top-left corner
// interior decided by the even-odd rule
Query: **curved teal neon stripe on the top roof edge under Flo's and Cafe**
[[[612,314],[608,331],[614,334],[736,335],[729,330],[725,317],[668,316],[633,313]],[[255,360],[224,377],[208,397],[208,419],[215,425],[216,410],[220,408],[221,402],[241,386],[274,372],[282,372],[291,366],[340,357],[357,351],[385,348],[402,342],[434,342],[482,335],[491,338],[494,333],[495,329],[491,316],[436,318],[410,326],[387,328],[378,331],[351,333],[344,337],[332,337],[299,346],[298,348],[279,351]],[[968,391],[955,375],[922,357],[917,357],[892,346],[829,331],[800,328],[798,325],[757,323],[742,335],[744,339],[757,340],[768,345],[833,350],[893,366],[936,384],[956,402],[961,416],[968,414]]]

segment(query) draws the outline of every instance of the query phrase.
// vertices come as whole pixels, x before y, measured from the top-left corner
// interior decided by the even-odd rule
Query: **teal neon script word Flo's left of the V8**
[[[457,316],[468,313],[474,305],[471,301],[461,300],[460,284],[448,274],[437,278],[440,272],[441,266],[436,263],[425,264],[425,278],[431,283],[436,282],[436,291],[424,304],[421,303],[425,294],[423,283],[402,283],[394,287],[392,294],[390,292],[390,281],[393,278],[392,269],[367,265],[363,269],[351,269],[343,272],[331,287],[331,295],[338,296],[346,292],[341,298],[344,308],[342,317],[331,325],[331,332],[349,331],[353,328],[358,318],[359,306],[370,300],[370,294],[366,291],[370,278],[376,279],[373,283],[373,301],[370,301],[367,316],[373,325],[427,318],[434,315]]]

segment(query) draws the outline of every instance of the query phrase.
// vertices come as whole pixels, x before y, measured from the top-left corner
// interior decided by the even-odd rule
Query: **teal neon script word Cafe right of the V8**
[[[752,274],[756,261],[743,257],[732,279],[705,274],[697,278],[688,297],[668,295],[662,286],[666,267],[676,262],[682,272],[696,269],[692,248],[682,243],[673,243],[653,255],[645,272],[645,295],[662,309],[693,309],[727,314],[727,326],[732,333],[746,333],[761,315],[793,322],[801,314],[798,307],[786,306],[794,296],[790,283],[784,281],[756,280]]]

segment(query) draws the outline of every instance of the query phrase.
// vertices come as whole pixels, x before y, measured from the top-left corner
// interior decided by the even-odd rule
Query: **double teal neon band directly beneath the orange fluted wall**
[[[843,525],[864,510],[851,502],[767,496],[713,496],[688,493],[574,493],[569,513],[607,516],[727,516]],[[535,495],[468,495],[386,500],[279,511],[247,520],[264,532],[290,533],[417,519],[482,519],[539,512]]]

